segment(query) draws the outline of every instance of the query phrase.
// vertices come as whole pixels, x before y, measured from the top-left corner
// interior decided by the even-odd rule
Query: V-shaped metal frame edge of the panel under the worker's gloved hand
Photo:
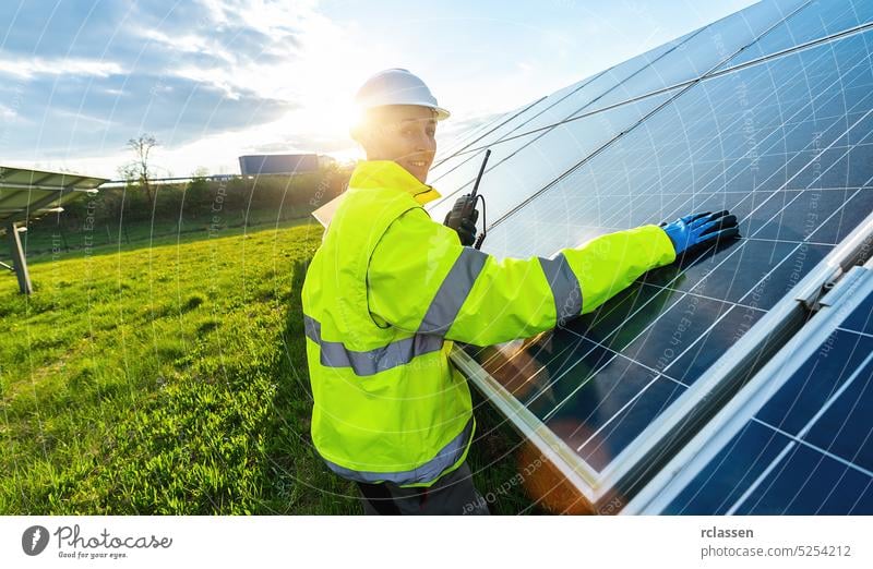
[[[529,439],[543,457],[588,500],[597,513],[618,513],[658,469],[801,329],[808,302],[873,247],[873,214],[846,237],[761,319],[731,346],[687,391],[659,415],[641,436],[595,471],[574,449],[525,408],[469,354],[455,346],[457,367]],[[625,498],[625,496],[630,497]]]

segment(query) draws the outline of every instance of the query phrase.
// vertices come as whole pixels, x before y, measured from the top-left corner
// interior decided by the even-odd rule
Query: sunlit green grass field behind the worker
[[[300,287],[321,234],[303,219],[34,255],[29,298],[0,276],[0,513],[361,512],[309,438]],[[519,440],[476,413],[477,487],[523,511]]]

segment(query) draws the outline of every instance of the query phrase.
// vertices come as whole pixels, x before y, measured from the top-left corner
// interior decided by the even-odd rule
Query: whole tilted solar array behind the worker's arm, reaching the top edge
[[[483,250],[498,257],[550,257],[694,211],[740,219],[742,239],[649,271],[564,327],[455,353],[523,432],[548,427],[540,446],[558,449],[593,509],[630,499],[711,416],[711,394],[763,364],[737,354],[761,330],[793,331],[789,290],[866,227],[872,48],[871,0],[761,2],[440,156],[434,219],[491,148]]]

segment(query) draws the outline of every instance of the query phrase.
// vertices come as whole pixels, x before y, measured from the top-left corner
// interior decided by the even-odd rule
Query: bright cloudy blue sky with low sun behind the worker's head
[[[438,142],[737,12],[750,0],[3,0],[0,165],[115,179],[246,154],[361,158],[351,100],[405,68],[452,117]]]

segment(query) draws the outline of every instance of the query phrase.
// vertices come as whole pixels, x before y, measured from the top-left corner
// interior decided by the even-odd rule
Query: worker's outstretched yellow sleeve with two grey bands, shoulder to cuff
[[[646,270],[674,259],[670,239],[653,225],[595,238],[553,259],[498,261],[462,246],[454,230],[416,208],[376,245],[368,302],[380,324],[490,346],[591,312]]]

